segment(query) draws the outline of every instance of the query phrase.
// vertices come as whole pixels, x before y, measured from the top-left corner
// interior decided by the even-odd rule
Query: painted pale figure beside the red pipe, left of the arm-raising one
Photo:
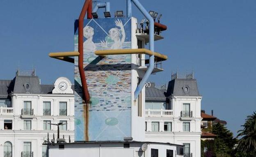
[[[86,52],[94,52],[96,50],[96,45],[92,41],[92,37],[94,35],[94,29],[90,26],[86,26],[83,29],[84,37],[87,39],[84,42],[84,51]]]

